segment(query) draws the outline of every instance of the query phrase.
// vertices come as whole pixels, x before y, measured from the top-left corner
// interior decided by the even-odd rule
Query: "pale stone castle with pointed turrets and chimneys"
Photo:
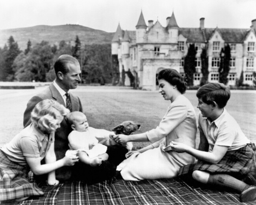
[[[199,28],[180,28],[174,13],[166,18],[166,26],[157,20],[145,22],[143,13],[139,16],[136,31],[123,31],[117,26],[111,54],[119,63],[120,79],[126,86],[137,79],[139,87],[145,90],[156,89],[156,76],[163,68],[173,68],[184,76],[184,58],[190,44],[197,50],[194,85],[202,78],[200,54],[207,48],[208,81],[219,81],[221,48],[229,44],[231,50],[228,85],[235,85],[243,70],[244,84],[253,85],[253,72],[256,72],[256,19],[248,29],[205,28],[204,18],[200,18]],[[122,74],[123,73],[123,74]],[[125,73],[125,78],[122,77]],[[132,78],[131,78],[132,77]]]

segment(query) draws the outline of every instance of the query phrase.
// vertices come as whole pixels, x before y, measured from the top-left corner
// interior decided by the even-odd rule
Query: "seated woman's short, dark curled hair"
[[[187,89],[187,83],[177,70],[166,68],[158,73],[158,80],[164,79],[171,85],[176,85],[181,94],[184,94]]]

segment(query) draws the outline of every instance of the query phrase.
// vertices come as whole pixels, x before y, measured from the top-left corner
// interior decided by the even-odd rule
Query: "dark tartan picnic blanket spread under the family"
[[[237,205],[239,195],[234,192],[219,192],[209,187],[199,187],[193,181],[181,178],[144,181],[124,181],[115,178],[86,185],[81,181],[39,187],[44,196],[34,197],[19,205]],[[255,202],[243,205],[255,205]]]

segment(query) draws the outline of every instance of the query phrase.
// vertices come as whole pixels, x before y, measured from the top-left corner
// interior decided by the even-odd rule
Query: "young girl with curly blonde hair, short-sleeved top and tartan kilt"
[[[28,172],[48,174],[48,185],[58,185],[56,169],[72,166],[78,157],[70,155],[56,161],[54,131],[60,127],[69,110],[54,100],[43,100],[31,113],[32,123],[0,148],[0,201],[22,201],[30,196],[43,195],[36,183],[30,183]],[[45,158],[46,164],[40,161]]]

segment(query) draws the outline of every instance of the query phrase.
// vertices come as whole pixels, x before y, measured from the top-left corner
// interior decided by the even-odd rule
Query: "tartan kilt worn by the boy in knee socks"
[[[178,176],[192,175],[193,171],[200,170],[210,174],[228,174],[243,179],[248,174],[256,178],[256,161],[254,151],[250,146],[238,150],[227,151],[218,164],[199,163],[182,166]]]

